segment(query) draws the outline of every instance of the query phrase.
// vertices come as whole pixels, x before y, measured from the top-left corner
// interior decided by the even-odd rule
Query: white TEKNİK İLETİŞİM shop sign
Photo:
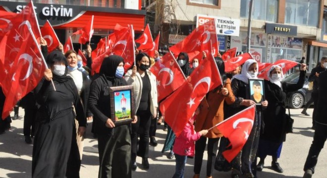
[[[218,35],[239,36],[240,20],[226,17],[197,15],[196,26],[205,24],[211,19],[215,19],[216,30]],[[212,27],[209,27],[212,28]]]

